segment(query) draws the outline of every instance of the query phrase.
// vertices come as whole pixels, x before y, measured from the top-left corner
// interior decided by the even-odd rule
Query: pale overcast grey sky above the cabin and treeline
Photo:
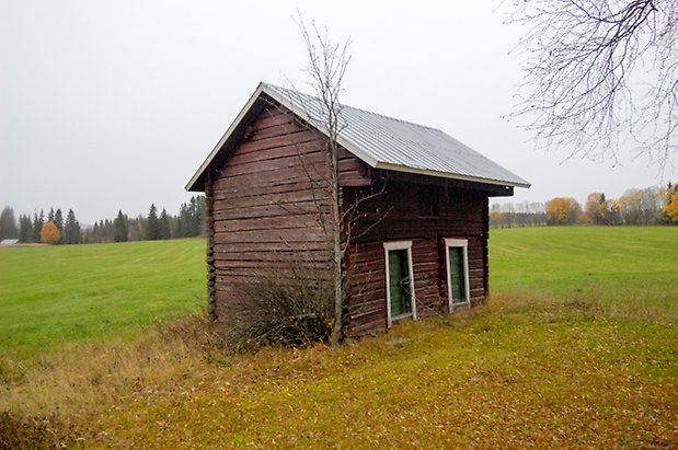
[[[184,185],[260,81],[310,92],[292,15],[351,37],[345,104],[443,129],[530,181],[514,200],[618,197],[664,180],[535,150],[501,116],[522,34],[497,0],[0,0],[0,207],[73,208],[83,223],[175,214]]]

